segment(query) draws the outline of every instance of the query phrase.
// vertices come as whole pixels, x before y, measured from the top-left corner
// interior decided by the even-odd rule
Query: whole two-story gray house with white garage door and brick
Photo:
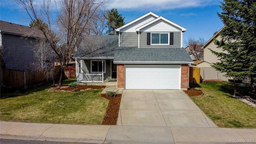
[[[192,60],[182,48],[185,31],[149,12],[116,29],[116,36],[86,36],[73,56],[77,80],[117,80],[121,89],[187,90]]]

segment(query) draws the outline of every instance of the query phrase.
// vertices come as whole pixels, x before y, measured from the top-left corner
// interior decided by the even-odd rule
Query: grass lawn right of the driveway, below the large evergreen
[[[237,85],[238,86],[238,85]],[[256,108],[231,96],[235,84],[230,82],[201,83],[196,86],[203,96],[191,98],[218,127],[256,128]],[[248,92],[248,86],[238,86]]]

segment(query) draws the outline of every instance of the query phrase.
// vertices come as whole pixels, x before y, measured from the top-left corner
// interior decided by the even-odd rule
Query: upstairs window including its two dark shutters
[[[173,45],[173,32],[147,33],[147,45]]]

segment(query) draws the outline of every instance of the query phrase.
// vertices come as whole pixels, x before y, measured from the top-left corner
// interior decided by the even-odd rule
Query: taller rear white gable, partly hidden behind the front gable
[[[117,28],[116,31],[117,32],[135,32],[135,29],[158,18],[159,16],[154,14],[153,12],[148,12],[147,14],[144,14],[143,16],[140,16],[139,18],[136,18],[135,20],[125,24],[124,26],[121,26],[120,28]],[[129,28],[131,28],[129,30],[129,28],[127,28],[129,26]]]

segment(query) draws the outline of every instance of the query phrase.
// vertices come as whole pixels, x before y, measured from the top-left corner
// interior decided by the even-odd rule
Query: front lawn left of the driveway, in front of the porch
[[[101,124],[109,100],[102,89],[48,92],[50,84],[18,92],[1,92],[0,120],[66,124]]]

